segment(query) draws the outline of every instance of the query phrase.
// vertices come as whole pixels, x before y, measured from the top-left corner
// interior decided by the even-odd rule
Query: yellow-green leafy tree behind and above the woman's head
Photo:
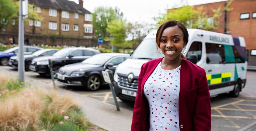
[[[171,10],[169,10],[165,14],[160,14],[158,17],[154,19],[157,21],[156,26],[158,27],[161,23],[167,20],[178,20],[183,23],[187,28],[196,28],[202,30],[215,30],[219,27],[219,17],[220,11],[232,10],[229,8],[230,4],[233,0],[230,0],[225,8],[221,9],[218,7],[217,9],[212,8],[212,12],[214,15],[209,17],[208,15],[203,12],[203,6],[194,9],[194,6],[188,5],[188,3],[182,4],[181,7],[174,6]],[[181,3],[184,3],[181,1]]]

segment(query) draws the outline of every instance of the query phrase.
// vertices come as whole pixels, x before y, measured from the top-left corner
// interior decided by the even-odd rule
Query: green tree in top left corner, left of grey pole
[[[9,23],[9,19],[17,14],[18,10],[13,0],[0,0],[0,30]]]

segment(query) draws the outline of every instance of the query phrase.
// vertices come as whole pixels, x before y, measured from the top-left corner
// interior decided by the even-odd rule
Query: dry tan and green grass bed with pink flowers
[[[17,79],[4,75],[0,75],[0,91],[0,131],[102,130],[95,130],[69,96],[56,95],[55,91],[45,93],[33,85],[19,85]]]

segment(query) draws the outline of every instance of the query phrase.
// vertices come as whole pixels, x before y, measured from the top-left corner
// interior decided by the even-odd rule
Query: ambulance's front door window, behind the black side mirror
[[[197,62],[201,59],[201,56],[202,56],[202,42],[194,41],[191,44],[191,46],[189,47],[186,58],[189,59],[192,54],[197,55]]]

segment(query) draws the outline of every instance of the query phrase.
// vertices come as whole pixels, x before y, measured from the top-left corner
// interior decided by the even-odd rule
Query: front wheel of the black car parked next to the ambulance
[[[101,79],[97,75],[92,75],[87,80],[86,88],[89,91],[96,91],[100,88],[100,86],[101,86]]]

